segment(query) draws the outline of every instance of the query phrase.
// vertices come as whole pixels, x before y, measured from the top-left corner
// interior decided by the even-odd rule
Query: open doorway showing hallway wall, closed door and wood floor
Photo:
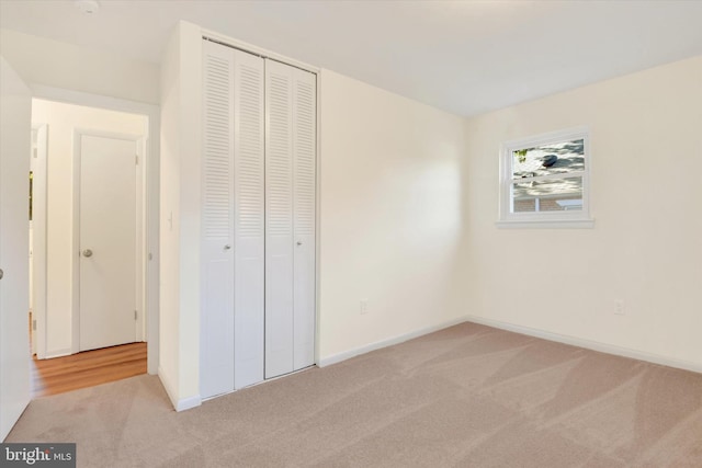
[[[32,395],[144,374],[149,115],[33,99],[32,122]]]

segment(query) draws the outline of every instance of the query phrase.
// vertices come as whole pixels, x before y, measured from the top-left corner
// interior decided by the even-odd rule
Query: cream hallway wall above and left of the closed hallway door
[[[48,125],[46,356],[55,357],[70,354],[73,339],[73,130],[146,136],[148,121],[141,115],[33,100],[32,122]]]

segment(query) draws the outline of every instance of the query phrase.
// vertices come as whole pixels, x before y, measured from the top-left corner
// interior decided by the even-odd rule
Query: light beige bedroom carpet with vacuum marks
[[[33,401],[80,467],[702,467],[702,375],[464,323],[176,413],[157,377]]]

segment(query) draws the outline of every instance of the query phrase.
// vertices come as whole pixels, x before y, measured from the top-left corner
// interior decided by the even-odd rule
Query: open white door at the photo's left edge
[[[30,90],[0,57],[0,441],[30,402],[31,119]]]

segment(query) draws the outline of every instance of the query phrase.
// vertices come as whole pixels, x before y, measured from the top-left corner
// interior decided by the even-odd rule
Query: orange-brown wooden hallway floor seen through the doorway
[[[32,398],[146,374],[146,343],[83,351],[52,359],[32,359]]]

